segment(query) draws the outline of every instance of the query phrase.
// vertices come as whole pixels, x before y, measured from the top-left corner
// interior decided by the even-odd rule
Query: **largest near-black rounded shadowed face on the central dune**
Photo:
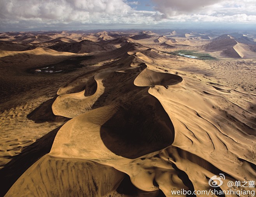
[[[160,102],[149,95],[117,106],[100,135],[115,154],[135,159],[164,149],[174,141],[174,126]]]

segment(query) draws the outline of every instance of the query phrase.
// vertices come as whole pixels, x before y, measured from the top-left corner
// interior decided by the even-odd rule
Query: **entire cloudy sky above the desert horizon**
[[[0,0],[0,31],[256,29],[256,0]]]

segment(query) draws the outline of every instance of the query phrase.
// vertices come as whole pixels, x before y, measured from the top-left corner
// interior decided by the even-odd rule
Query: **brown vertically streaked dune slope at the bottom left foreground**
[[[5,196],[104,196],[116,189],[123,179],[123,173],[108,166],[81,159],[66,160],[51,156],[42,157],[29,170],[32,173],[22,175],[21,181],[17,181]],[[46,170],[48,174],[45,173]],[[52,187],[57,185],[59,187]]]

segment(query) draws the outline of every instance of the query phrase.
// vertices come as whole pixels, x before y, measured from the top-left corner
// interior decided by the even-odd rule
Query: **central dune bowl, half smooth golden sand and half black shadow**
[[[174,126],[168,114],[155,97],[148,95],[72,119],[58,132],[50,154],[100,161],[135,159],[164,149],[173,140]]]

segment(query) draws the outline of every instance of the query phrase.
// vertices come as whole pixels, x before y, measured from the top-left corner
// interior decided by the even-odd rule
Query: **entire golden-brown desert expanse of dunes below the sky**
[[[219,173],[219,190],[256,180],[251,38],[33,34],[0,35],[1,196],[171,197]]]

